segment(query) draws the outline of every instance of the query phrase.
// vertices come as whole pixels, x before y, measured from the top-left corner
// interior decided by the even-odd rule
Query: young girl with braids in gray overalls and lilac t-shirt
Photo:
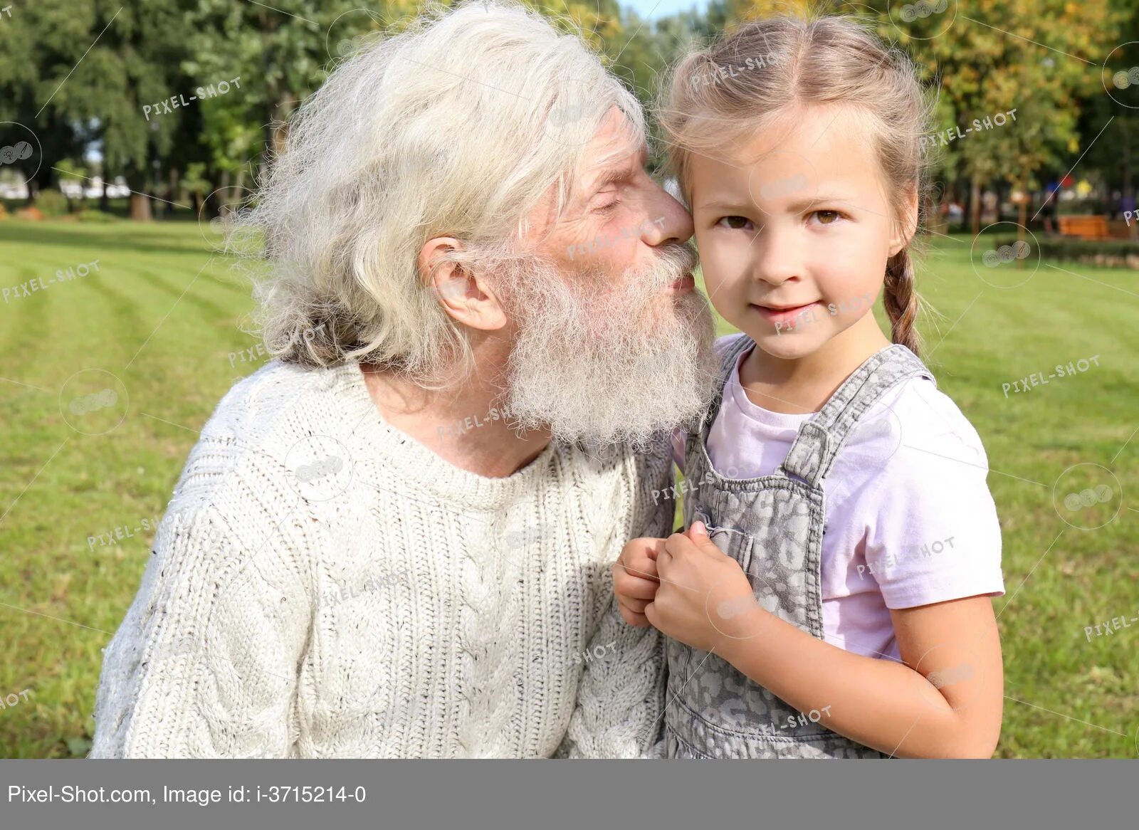
[[[671,757],[995,747],[988,462],[913,331],[925,117],[912,64],[847,18],[754,22],[677,71],[672,162],[743,334],[682,436],[687,533],[614,574],[625,619],[670,638]]]

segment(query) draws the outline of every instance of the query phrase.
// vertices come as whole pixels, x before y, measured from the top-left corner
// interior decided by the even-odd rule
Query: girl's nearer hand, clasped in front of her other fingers
[[[656,558],[661,585],[645,617],[669,636],[704,651],[753,636],[764,611],[739,562],[715,547],[704,523],[674,533]]]

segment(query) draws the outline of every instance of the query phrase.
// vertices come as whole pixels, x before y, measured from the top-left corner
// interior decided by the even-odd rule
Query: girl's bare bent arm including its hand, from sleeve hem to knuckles
[[[992,755],[1003,669],[988,597],[892,610],[903,660],[895,663],[831,646],[761,608],[700,523],[667,540],[657,572],[645,609],[653,625],[721,656],[811,720],[895,756]]]

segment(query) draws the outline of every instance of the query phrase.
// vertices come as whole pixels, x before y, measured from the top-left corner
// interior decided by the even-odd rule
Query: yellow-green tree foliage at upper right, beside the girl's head
[[[973,179],[1039,189],[1042,175],[1054,178],[1080,157],[1109,113],[1126,115],[1104,94],[1098,64],[1120,43],[1139,39],[1131,0],[945,0],[943,11],[910,20],[906,7],[900,0],[731,0],[729,19],[810,9],[872,22],[879,36],[921,67],[936,96],[935,130],[964,132],[975,118],[1015,109],[1015,123],[937,148],[936,172],[949,184]],[[1099,115],[1089,121],[1090,112]],[[1118,166],[1118,150],[1100,153],[1082,170],[1089,161]]]

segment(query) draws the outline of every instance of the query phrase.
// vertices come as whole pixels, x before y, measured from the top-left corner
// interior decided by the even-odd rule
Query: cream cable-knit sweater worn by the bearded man
[[[550,444],[486,478],[385,424],[357,363],[270,362],[187,460],[89,757],[662,756],[662,639],[609,566],[667,535],[670,465]]]

